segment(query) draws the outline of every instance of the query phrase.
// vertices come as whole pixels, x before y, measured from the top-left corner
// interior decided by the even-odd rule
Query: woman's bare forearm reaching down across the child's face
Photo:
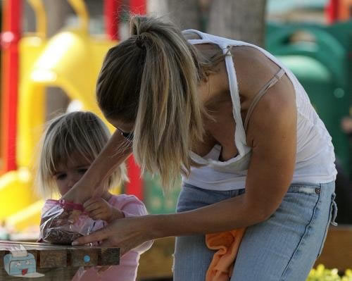
[[[132,146],[128,145],[125,138],[116,130],[81,180],[62,199],[84,203],[94,194],[99,195],[97,187],[125,161],[131,152]]]

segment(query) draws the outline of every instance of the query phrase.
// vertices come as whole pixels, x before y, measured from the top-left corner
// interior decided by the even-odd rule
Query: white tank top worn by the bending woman
[[[190,39],[190,44],[217,44],[226,54],[229,46],[252,46],[261,51],[271,61],[279,65],[287,73],[294,85],[297,107],[297,148],[296,166],[292,183],[325,183],[335,180],[337,170],[334,165],[334,146],[324,123],[320,120],[308,95],[291,71],[281,62],[259,46],[214,35],[208,35],[198,30],[184,30],[184,33],[195,33],[200,39]],[[226,70],[229,80],[230,94],[233,105],[233,115],[236,123],[234,142],[238,154],[228,161],[219,161],[221,146],[216,144],[206,156],[199,156],[190,151],[191,158],[196,163],[205,166],[192,167],[189,177],[182,177],[183,182],[203,189],[232,190],[242,189],[246,184],[246,175],[251,158],[251,147],[246,144],[246,133],[241,118],[241,104],[236,71],[236,58],[225,56]]]

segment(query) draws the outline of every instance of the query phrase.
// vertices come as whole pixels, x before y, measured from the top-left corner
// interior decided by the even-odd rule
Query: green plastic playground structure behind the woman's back
[[[266,49],[287,65],[306,89],[332,136],[335,153],[351,175],[351,146],[341,130],[352,96],[352,21],[334,25],[270,24]]]

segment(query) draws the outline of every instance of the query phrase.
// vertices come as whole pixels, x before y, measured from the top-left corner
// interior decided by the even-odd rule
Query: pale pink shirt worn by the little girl
[[[147,215],[146,207],[143,202],[134,195],[113,195],[108,201],[111,206],[118,208],[125,214],[125,217]],[[97,223],[96,225],[101,225]],[[102,226],[102,225],[101,225]],[[94,230],[97,230],[94,227]],[[134,281],[137,277],[137,268],[139,265],[139,256],[151,248],[152,241],[132,249],[120,258],[120,265],[111,266],[108,270],[98,273],[99,267],[80,268],[73,277],[72,281]]]

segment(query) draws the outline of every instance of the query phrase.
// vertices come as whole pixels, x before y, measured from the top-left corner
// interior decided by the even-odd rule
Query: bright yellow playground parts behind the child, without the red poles
[[[39,225],[42,201],[34,195],[32,167],[45,119],[45,88],[60,87],[70,99],[80,100],[84,109],[101,116],[94,98],[96,77],[103,56],[116,42],[90,36],[84,2],[69,2],[80,18],[80,27],[46,39],[42,1],[30,0],[37,17],[37,32],[19,42],[18,170],[0,177],[0,220],[6,219],[18,230]]]

